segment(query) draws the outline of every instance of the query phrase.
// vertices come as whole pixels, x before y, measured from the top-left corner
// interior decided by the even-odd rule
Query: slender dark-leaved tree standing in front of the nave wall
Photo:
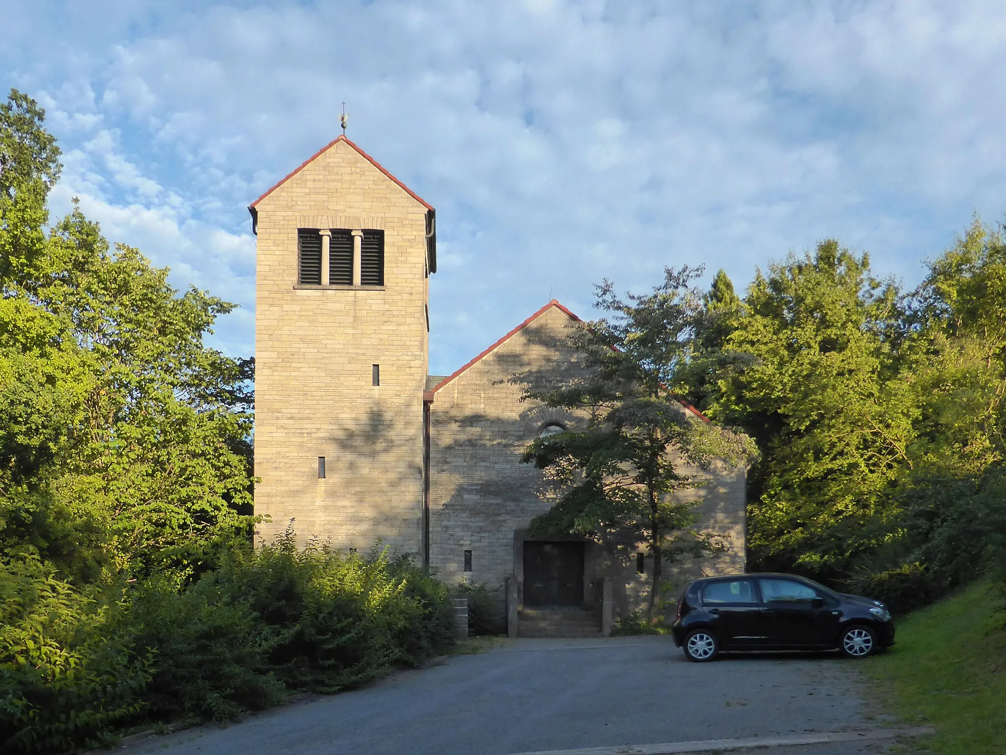
[[[584,356],[582,374],[524,393],[583,418],[582,427],[538,438],[523,455],[547,470],[560,491],[531,532],[645,542],[654,564],[651,622],[659,619],[663,566],[683,553],[726,547],[716,535],[692,528],[695,503],[679,493],[696,482],[683,466],[704,466],[717,456],[740,462],[752,451],[744,436],[707,424],[675,396],[701,310],[688,283],[700,272],[667,269],[652,294],[626,300],[605,281],[598,307],[612,318],[580,323],[571,336]]]

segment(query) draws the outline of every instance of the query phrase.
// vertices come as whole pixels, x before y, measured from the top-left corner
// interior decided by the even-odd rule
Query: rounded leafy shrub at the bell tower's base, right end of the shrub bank
[[[336,692],[413,664],[452,641],[447,589],[407,556],[298,550],[292,527],[215,574],[270,637],[269,663],[287,687]]]

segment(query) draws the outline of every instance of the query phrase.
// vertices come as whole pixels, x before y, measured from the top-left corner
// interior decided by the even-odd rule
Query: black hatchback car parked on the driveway
[[[839,649],[862,658],[894,644],[883,603],[829,590],[789,574],[695,580],[678,600],[671,628],[689,660],[726,650]]]

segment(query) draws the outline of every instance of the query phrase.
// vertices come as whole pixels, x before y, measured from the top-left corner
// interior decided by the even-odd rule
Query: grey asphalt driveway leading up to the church
[[[171,755],[510,755],[574,748],[786,738],[891,726],[837,655],[690,663],[665,637],[507,640],[226,727],[127,748]],[[788,746],[883,752],[890,741]]]

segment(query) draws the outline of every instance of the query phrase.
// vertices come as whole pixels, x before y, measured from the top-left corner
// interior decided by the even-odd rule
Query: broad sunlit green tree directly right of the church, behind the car
[[[865,255],[834,241],[770,265],[747,290],[723,346],[747,359],[720,371],[708,411],[763,451],[749,491],[756,563],[835,575],[876,546],[867,525],[890,519],[887,493],[914,438],[916,409],[892,380],[897,301]]]

